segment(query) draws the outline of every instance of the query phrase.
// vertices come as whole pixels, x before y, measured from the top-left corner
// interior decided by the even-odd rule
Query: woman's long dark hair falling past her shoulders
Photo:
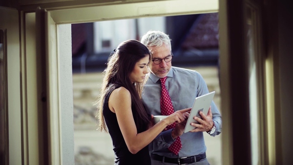
[[[129,75],[134,69],[136,62],[140,61],[146,56],[149,56],[150,61],[151,54],[144,44],[136,40],[127,40],[120,43],[117,49],[115,49],[114,54],[109,57],[107,67],[104,71],[104,79],[98,101],[98,129],[101,131],[108,131],[103,115],[103,104],[105,95],[108,93],[109,89],[115,87],[115,85],[123,86],[130,92],[131,107],[133,107],[132,113],[136,128],[137,130],[146,129],[146,125],[149,124],[149,118],[141,101],[143,83],[134,82],[133,84],[129,80]]]

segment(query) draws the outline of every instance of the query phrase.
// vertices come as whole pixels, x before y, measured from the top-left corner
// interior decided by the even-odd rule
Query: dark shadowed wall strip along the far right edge
[[[293,165],[293,2],[278,1],[283,165]]]

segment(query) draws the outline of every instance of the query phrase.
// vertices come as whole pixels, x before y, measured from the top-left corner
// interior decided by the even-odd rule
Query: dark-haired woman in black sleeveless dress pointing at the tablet
[[[99,128],[108,131],[112,138],[116,165],[150,165],[147,145],[167,125],[184,121],[183,113],[190,108],[176,111],[153,125],[141,101],[149,72],[149,50],[139,41],[127,40],[114,51],[104,72]]]

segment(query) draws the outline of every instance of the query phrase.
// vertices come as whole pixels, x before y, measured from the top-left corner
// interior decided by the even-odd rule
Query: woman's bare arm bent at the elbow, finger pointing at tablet
[[[176,111],[150,129],[137,133],[131,111],[131,96],[126,88],[120,87],[115,89],[109,97],[108,105],[110,110],[116,113],[118,124],[128,150],[133,154],[137,153],[153,141],[155,137],[167,127],[167,125],[173,124],[174,122],[180,123],[184,121],[186,117],[183,113],[190,110],[190,108],[188,108]]]

